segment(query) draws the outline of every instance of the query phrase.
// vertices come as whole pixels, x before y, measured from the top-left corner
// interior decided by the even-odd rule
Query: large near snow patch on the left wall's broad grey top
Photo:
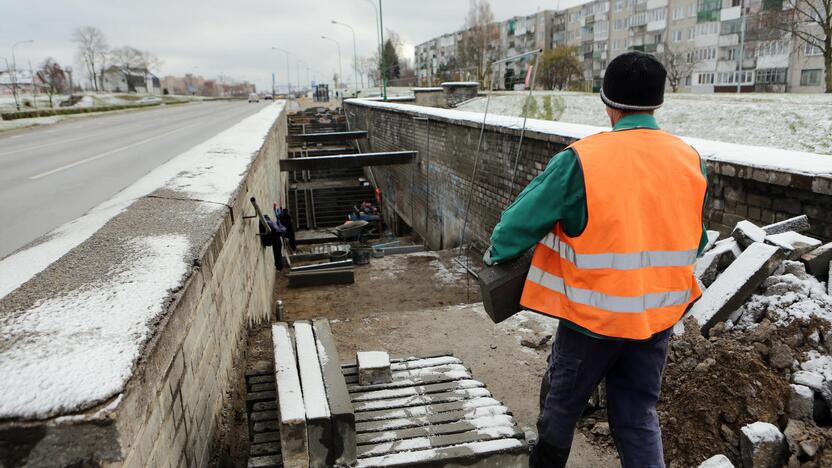
[[[0,418],[86,409],[124,390],[151,323],[189,265],[184,236],[125,246],[120,273],[0,320]]]

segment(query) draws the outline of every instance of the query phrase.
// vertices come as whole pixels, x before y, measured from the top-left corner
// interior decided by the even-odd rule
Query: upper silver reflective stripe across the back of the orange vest
[[[686,266],[692,265],[696,261],[696,254],[699,252],[699,249],[696,248],[689,250],[646,250],[625,254],[576,254],[569,244],[561,242],[560,237],[552,232],[546,234],[546,237],[540,243],[558,252],[564,260],[586,270],[598,268],[635,270],[646,267]]]

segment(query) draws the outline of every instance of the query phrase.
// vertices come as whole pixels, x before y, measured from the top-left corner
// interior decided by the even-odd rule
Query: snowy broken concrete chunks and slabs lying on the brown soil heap
[[[690,336],[698,331],[721,347],[719,352],[736,346],[734,354],[721,355],[733,362],[720,365],[745,367],[733,375],[748,376],[750,398],[744,405],[752,411],[746,417],[757,413],[760,420],[733,421],[739,431],[732,421],[721,422],[728,453],[705,466],[733,466],[730,460],[746,467],[832,466],[832,291],[824,284],[832,243],[822,245],[802,234],[809,229],[807,218],[800,216],[764,227],[742,221],[721,241],[709,232],[709,245],[695,268],[702,297],[688,312],[692,319],[680,322],[675,332],[681,335],[688,328]],[[691,360],[696,352],[680,353],[685,342],[671,343],[670,362],[680,368],[693,365],[694,373],[718,372],[713,352],[699,362]],[[696,347],[700,353],[709,348]],[[753,350],[767,368],[749,373],[754,364],[742,361],[744,349]],[[770,382],[761,384],[766,378]],[[749,401],[762,398],[768,405]]]

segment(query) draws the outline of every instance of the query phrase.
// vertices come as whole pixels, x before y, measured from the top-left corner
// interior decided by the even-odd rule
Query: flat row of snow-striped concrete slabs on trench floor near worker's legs
[[[449,356],[390,359],[386,383],[361,385],[343,366],[355,409],[358,467],[528,466],[511,412]],[[377,362],[373,359],[374,362]]]

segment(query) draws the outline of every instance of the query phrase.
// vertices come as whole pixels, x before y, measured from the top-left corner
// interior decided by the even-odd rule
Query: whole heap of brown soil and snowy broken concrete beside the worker
[[[832,466],[832,243],[805,216],[709,231],[657,410],[671,467]],[[581,423],[611,445],[603,388]]]

